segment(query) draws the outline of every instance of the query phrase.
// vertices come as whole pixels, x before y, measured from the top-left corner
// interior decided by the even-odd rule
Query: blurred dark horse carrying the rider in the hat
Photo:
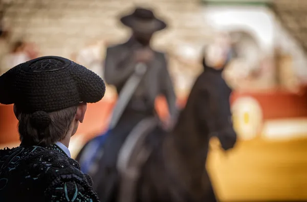
[[[133,201],[216,201],[205,162],[211,137],[217,137],[224,150],[236,142],[230,93],[222,70],[205,68],[173,130],[167,132],[157,125],[146,137],[144,144],[151,152],[140,169]],[[104,151],[103,156],[108,152],[112,151]],[[98,168],[92,173],[94,188],[101,201],[118,201],[122,178],[104,159],[98,160]]]

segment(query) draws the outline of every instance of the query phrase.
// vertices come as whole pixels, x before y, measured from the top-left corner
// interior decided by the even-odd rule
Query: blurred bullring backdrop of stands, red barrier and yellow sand
[[[29,59],[58,55],[103,78],[106,47],[130,34],[117,15],[137,5],[168,24],[152,47],[167,53],[181,106],[202,71],[204,47],[217,35],[229,36],[236,54],[224,76],[233,89],[239,141],[227,155],[211,143],[208,169],[217,195],[307,200],[305,0],[1,0],[0,75]],[[105,98],[89,105],[70,145],[73,155],[105,129],[116,96],[108,85]],[[168,116],[164,98],[156,108]],[[0,105],[0,147],[18,145],[16,123],[12,106]]]

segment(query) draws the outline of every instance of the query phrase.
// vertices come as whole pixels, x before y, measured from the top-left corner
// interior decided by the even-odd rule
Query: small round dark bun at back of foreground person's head
[[[50,125],[51,118],[46,111],[35,111],[30,115],[30,123],[36,129],[43,130]]]

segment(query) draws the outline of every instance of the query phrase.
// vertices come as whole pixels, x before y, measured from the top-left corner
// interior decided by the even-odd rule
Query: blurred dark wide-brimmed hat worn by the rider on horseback
[[[136,8],[133,13],[121,17],[120,21],[125,26],[143,33],[153,33],[167,27],[166,23],[157,18],[153,11],[145,8]]]

